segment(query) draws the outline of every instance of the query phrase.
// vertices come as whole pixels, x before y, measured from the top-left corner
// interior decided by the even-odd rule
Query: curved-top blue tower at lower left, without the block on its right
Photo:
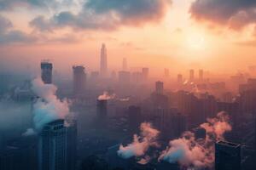
[[[56,120],[44,126],[38,143],[38,170],[66,169],[66,138],[64,120]]]

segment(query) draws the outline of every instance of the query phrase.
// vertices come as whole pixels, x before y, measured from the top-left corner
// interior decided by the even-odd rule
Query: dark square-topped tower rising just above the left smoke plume
[[[41,62],[41,78],[45,84],[52,83],[52,68],[53,65],[49,61],[44,60]]]

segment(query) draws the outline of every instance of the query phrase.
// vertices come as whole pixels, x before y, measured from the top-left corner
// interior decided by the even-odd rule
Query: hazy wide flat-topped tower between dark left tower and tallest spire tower
[[[84,72],[84,66],[73,66],[73,94],[83,94],[86,84],[86,74]]]

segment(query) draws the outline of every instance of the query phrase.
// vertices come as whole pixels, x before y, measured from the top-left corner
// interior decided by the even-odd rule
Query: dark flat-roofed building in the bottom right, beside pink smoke
[[[216,170],[241,170],[241,145],[219,141],[215,144]]]

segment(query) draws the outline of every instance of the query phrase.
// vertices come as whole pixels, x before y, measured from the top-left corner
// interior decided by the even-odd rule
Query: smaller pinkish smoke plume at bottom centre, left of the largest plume
[[[122,144],[119,146],[118,155],[124,159],[131,158],[132,156],[145,156],[149,147],[158,147],[157,138],[159,131],[154,129],[152,125],[148,122],[143,122],[140,126],[141,136],[135,134],[133,136],[133,142],[127,146]],[[139,163],[147,163],[150,160],[148,156],[142,158]]]

